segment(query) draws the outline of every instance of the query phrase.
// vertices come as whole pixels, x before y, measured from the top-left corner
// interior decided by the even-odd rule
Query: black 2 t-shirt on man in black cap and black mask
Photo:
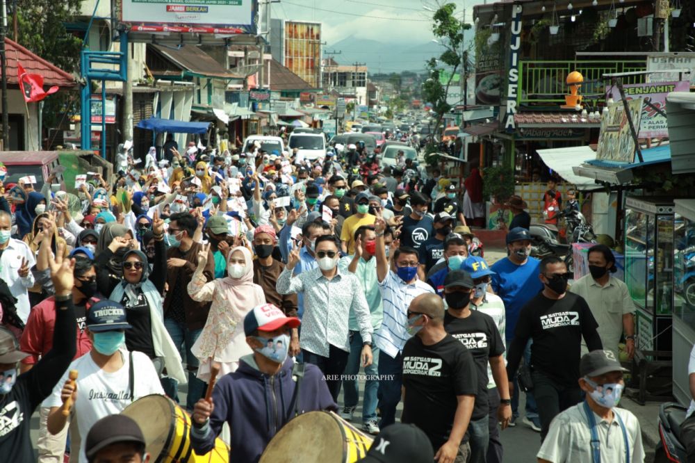
[[[491,316],[476,310],[472,310],[466,318],[457,318],[447,312],[444,316],[444,329],[461,341],[473,355],[477,371],[477,394],[471,419],[481,419],[490,411],[487,400],[487,366],[490,357],[498,357],[505,352],[500,330]]]

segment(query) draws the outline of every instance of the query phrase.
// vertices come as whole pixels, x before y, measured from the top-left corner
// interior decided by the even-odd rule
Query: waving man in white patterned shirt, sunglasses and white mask
[[[383,242],[383,239],[382,239]],[[363,366],[372,364],[372,322],[364,291],[352,273],[338,268],[340,243],[333,235],[316,238],[314,245],[318,268],[292,276],[300,261],[300,247],[289,255],[287,266],[277,279],[280,294],[304,293],[304,316],[300,347],[304,362],[320,368],[334,400],[341,390],[341,375],[350,355],[350,311],[357,318],[362,336]]]

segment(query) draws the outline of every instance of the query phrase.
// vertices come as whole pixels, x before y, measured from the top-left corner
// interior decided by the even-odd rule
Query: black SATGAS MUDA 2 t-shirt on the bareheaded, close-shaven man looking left
[[[473,356],[450,334],[432,346],[413,336],[402,355],[405,396],[401,422],[425,431],[436,451],[449,439],[457,396],[477,392]]]

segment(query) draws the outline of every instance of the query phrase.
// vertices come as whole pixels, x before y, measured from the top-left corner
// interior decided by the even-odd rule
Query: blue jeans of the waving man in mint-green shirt
[[[347,357],[347,366],[345,366],[345,376],[343,380],[343,389],[345,390],[345,407],[357,407],[359,402],[359,385],[357,379],[352,379],[350,376],[359,373],[361,365],[360,357],[362,353],[362,336],[359,331],[350,332],[350,356]],[[366,423],[368,420],[377,419],[377,391],[379,390],[379,348],[372,347],[373,363],[364,368],[364,374],[367,376],[364,382],[364,398],[362,402],[362,421]]]

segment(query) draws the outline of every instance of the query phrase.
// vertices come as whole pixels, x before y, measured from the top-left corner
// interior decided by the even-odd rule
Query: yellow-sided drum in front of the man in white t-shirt
[[[215,439],[215,448],[206,455],[195,455],[188,439],[190,416],[167,396],[139,398],[121,413],[140,425],[154,463],[229,462],[229,446],[220,438]]]

